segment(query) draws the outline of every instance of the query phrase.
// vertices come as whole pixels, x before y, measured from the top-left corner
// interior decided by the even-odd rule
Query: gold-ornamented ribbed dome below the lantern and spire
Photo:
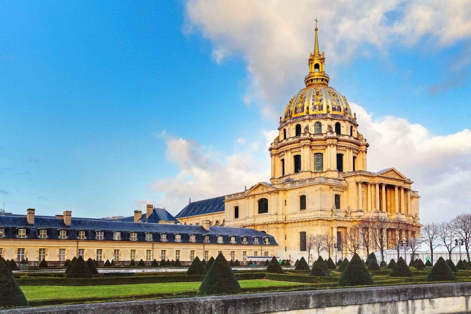
[[[309,86],[291,98],[284,110],[282,122],[307,114],[313,114],[312,118],[324,118],[327,113],[333,119],[353,119],[349,103],[341,93],[329,86]]]

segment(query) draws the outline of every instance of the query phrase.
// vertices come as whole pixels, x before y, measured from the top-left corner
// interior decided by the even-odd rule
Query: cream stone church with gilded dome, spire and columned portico
[[[330,235],[337,253],[349,255],[341,241],[365,218],[400,219],[407,229],[404,240],[414,236],[420,226],[420,196],[412,190],[413,182],[397,169],[366,169],[368,142],[358,131],[347,99],[329,86],[317,25],[304,84],[286,105],[278,136],[268,149],[270,182],[190,201],[176,218],[182,224],[209,221],[271,234],[279,244],[279,257],[292,260],[308,257],[306,237],[310,234]],[[388,229],[388,238],[395,232]]]

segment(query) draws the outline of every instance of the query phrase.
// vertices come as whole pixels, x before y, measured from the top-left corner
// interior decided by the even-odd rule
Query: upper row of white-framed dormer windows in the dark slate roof
[[[265,199],[266,200],[266,199]],[[266,200],[266,212],[268,212],[268,200]],[[4,228],[0,228],[0,237],[3,237],[5,234]],[[41,239],[46,239],[48,237],[48,230],[47,229],[39,229],[39,238]],[[104,239],[104,232],[103,231],[95,231],[95,239],[96,240],[103,240]],[[145,233],[146,234],[146,241],[152,241],[153,240],[153,234],[152,233]],[[86,239],[85,237],[85,230],[79,230],[77,231],[78,238],[80,240]],[[26,229],[24,228],[18,228],[17,229],[17,237],[18,238],[26,238]],[[67,230],[59,230],[58,233],[59,239],[67,239]],[[174,234],[175,237],[175,242],[181,242],[181,234]],[[120,231],[114,231],[113,232],[113,240],[120,241],[121,238],[121,232]],[[129,239],[130,241],[137,241],[138,240],[138,233],[137,232],[130,232],[129,233]],[[188,235],[188,240],[189,242],[196,242],[196,235],[195,234],[189,234]],[[229,242],[230,243],[235,243],[235,236],[231,235],[229,236]],[[167,240],[167,233],[160,233],[160,241],[161,242],[168,242]],[[248,243],[248,238],[243,236],[241,237],[241,241],[244,244]],[[204,243],[210,243],[210,236],[207,234],[203,235],[203,242]],[[216,236],[216,242],[217,243],[223,243],[224,238],[222,235],[217,235]],[[270,244],[270,241],[268,237],[263,238],[263,242],[265,244]],[[252,244],[259,244],[259,238],[257,237],[252,237]]]

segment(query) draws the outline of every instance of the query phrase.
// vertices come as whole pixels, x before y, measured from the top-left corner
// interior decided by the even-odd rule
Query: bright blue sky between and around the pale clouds
[[[303,87],[309,48],[293,54],[282,49],[273,73],[260,70],[254,51],[263,46],[257,50],[252,40],[235,36],[237,21],[218,27],[209,17],[224,8],[207,2],[1,4],[0,192],[7,211],[104,217],[131,215],[153,202],[176,214],[188,197],[237,192],[267,173],[266,137],[273,134],[267,132]],[[198,16],[199,5],[215,11]],[[391,25],[404,18],[395,10],[404,8],[384,13]],[[237,14],[256,16],[250,10]],[[414,40],[385,35],[384,46],[360,39],[352,51],[340,45],[329,51],[333,31],[327,22],[324,33],[319,27],[330,85],[376,122],[403,118],[422,125],[432,139],[470,127],[470,34],[443,39],[425,32]],[[270,38],[263,27],[252,32]],[[312,47],[312,27],[303,32],[300,46]],[[225,53],[220,59],[219,50]],[[264,85],[281,70],[290,73],[281,80],[283,89]],[[256,96],[247,101],[249,94]],[[176,161],[180,148],[172,143],[179,139],[200,159]],[[234,189],[233,182],[192,190],[201,171],[186,172],[188,165],[201,162],[198,169],[221,172],[231,156],[257,165],[247,167],[236,191],[226,189]],[[175,186],[167,189],[166,182]]]

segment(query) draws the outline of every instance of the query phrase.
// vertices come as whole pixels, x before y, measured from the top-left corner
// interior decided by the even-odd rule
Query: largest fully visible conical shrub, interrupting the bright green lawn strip
[[[224,258],[222,253],[219,253],[204,277],[196,295],[207,296],[211,294],[235,294],[241,292],[240,284],[237,278],[235,278],[226,258]]]

